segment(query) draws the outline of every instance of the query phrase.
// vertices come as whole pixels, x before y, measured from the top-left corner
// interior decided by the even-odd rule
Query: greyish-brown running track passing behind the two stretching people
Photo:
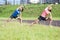
[[[0,21],[6,21],[6,20],[0,20]],[[16,20],[13,20],[16,21]],[[34,20],[23,20],[23,23],[32,23]],[[40,21],[39,24],[43,25],[49,25],[49,21]],[[60,20],[53,20],[52,26],[58,26],[60,27]]]

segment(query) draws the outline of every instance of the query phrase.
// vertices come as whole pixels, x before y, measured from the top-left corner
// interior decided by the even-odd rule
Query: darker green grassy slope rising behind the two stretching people
[[[24,12],[22,12],[23,17],[38,17],[44,8],[49,4],[31,4],[31,5],[25,5]],[[0,7],[0,17],[10,17],[10,15],[13,13],[13,11],[17,8],[17,5],[4,5]],[[53,17],[60,17],[60,4],[53,5],[52,9],[52,15]]]

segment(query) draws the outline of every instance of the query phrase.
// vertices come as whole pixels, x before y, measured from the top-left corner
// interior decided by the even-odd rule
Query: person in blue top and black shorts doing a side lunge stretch
[[[18,7],[7,20],[7,22],[11,21],[14,18],[17,19],[20,23],[22,23],[21,12],[23,12],[23,6]]]

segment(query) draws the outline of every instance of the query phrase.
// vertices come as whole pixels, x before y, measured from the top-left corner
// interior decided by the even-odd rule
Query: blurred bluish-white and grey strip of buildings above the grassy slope
[[[20,5],[20,4],[60,4],[60,0],[0,0],[0,5]]]

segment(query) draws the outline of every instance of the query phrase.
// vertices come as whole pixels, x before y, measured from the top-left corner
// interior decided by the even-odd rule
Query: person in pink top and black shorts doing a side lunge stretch
[[[43,20],[43,21],[49,20],[49,25],[51,25],[51,23],[52,23],[51,10],[52,10],[52,5],[49,5],[48,7],[46,7],[43,10],[42,14],[38,17],[38,19],[36,19],[34,22],[32,22],[31,25],[36,24],[36,23],[38,23],[41,20]]]

